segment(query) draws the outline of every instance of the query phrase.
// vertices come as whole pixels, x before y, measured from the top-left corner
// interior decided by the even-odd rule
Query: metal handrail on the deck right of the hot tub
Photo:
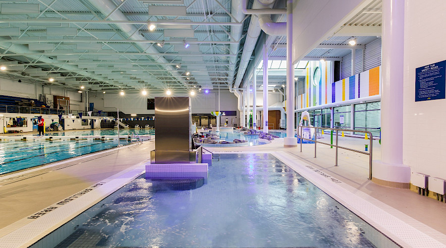
[[[321,143],[321,144],[325,144],[325,145],[330,145],[330,146],[335,146],[336,147],[336,157],[335,157],[335,166],[337,166],[337,149],[341,148],[344,150],[349,150],[349,151],[353,151],[353,152],[359,152],[365,155],[369,155],[369,179],[372,179],[372,152],[373,152],[373,134],[370,131],[361,131],[361,130],[351,130],[351,129],[340,129],[340,128],[330,128],[330,127],[318,127],[318,126],[302,126],[299,125],[297,126],[297,136],[299,137],[299,127],[300,127],[300,152],[302,152],[302,140],[309,140],[309,141],[314,141],[314,157],[316,158],[316,145],[317,143]],[[303,138],[302,137],[302,128],[303,127],[308,127],[308,128],[315,128],[315,135],[314,135],[314,140],[313,139],[307,139],[307,138]],[[325,129],[325,130],[335,130],[336,131],[336,144],[329,144],[329,143],[325,143],[325,142],[321,142],[318,141],[318,135],[316,134],[316,130],[317,129]],[[338,142],[337,142],[337,137],[339,135],[338,131],[354,131],[354,132],[363,132],[363,133],[368,133],[370,136],[370,141],[369,141],[369,147],[370,147],[370,152],[363,152],[363,151],[359,151],[359,150],[355,150],[355,149],[351,149],[348,147],[343,147],[343,146],[339,146]]]

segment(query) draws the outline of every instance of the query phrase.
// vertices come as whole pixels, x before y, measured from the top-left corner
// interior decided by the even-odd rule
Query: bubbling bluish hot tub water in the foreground
[[[87,216],[57,247],[374,247],[367,224],[269,154],[222,154],[193,190],[140,177]]]

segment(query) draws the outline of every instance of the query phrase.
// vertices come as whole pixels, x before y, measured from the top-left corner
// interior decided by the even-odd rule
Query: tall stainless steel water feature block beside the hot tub
[[[195,163],[190,123],[189,97],[155,97],[156,141],[151,152],[152,164]]]

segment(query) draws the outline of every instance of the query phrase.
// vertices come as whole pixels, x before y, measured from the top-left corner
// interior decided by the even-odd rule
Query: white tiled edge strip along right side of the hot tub
[[[287,152],[276,151],[271,154],[399,245],[414,248],[445,247],[446,235],[441,232],[352,186],[336,184]]]

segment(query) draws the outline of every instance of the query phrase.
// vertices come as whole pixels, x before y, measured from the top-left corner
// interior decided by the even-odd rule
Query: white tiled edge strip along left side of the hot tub
[[[117,189],[136,179],[144,173],[143,165],[147,161],[150,161],[150,158],[102,180],[102,184],[95,187],[94,190],[63,204],[45,215],[41,215],[38,219],[29,219],[28,216],[0,229],[0,248],[29,247],[33,245]],[[57,203],[55,202],[50,206]]]

